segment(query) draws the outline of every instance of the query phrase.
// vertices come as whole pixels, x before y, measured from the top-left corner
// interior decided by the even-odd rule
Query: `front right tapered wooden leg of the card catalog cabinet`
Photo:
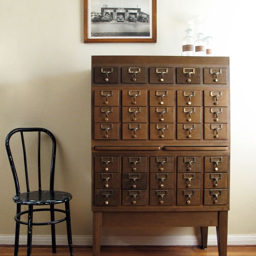
[[[218,227],[216,227],[218,255],[227,256],[227,211],[220,211],[218,218]]]

